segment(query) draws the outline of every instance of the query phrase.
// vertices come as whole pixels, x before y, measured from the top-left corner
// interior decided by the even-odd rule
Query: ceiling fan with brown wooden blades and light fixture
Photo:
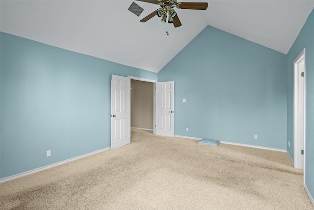
[[[155,17],[161,17],[161,23],[173,23],[174,27],[182,26],[178,14],[173,9],[174,7],[178,9],[198,9],[198,10],[206,10],[208,7],[207,2],[177,2],[177,0],[138,0],[144,1],[148,3],[154,3],[159,5],[161,8],[155,10],[151,14],[147,15],[145,18],[140,20],[140,22],[146,22],[149,19]]]

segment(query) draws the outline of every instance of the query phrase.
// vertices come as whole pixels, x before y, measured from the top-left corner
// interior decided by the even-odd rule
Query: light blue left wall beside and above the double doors
[[[3,32],[0,42],[0,178],[110,147],[110,75],[157,80]]]

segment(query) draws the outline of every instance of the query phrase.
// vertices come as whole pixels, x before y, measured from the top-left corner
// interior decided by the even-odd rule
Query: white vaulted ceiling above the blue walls
[[[1,0],[0,30],[74,52],[158,72],[206,26],[287,54],[314,0],[178,0],[208,2],[205,11],[175,9],[182,26],[160,23],[159,8],[132,0]],[[208,37],[210,39],[210,37]]]

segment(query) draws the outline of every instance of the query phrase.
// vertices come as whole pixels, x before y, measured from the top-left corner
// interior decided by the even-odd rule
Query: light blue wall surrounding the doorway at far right
[[[291,142],[288,152],[293,155],[293,60],[305,48],[305,80],[306,80],[306,173],[305,184],[314,197],[314,10],[300,31],[287,55],[287,137]]]

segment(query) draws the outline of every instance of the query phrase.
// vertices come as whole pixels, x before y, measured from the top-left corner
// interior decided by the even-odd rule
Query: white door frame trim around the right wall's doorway
[[[299,82],[298,82],[298,63],[304,59],[304,106],[299,107],[298,99],[299,99]],[[305,49],[296,57],[293,61],[293,73],[294,73],[294,85],[293,85],[293,162],[294,168],[302,168],[301,166],[301,158],[304,158],[303,161],[303,169],[304,169],[304,178],[305,178]],[[300,126],[300,110],[303,109],[303,128]],[[303,129],[303,139],[300,139],[300,129]],[[304,155],[301,154],[301,141],[304,144]]]

